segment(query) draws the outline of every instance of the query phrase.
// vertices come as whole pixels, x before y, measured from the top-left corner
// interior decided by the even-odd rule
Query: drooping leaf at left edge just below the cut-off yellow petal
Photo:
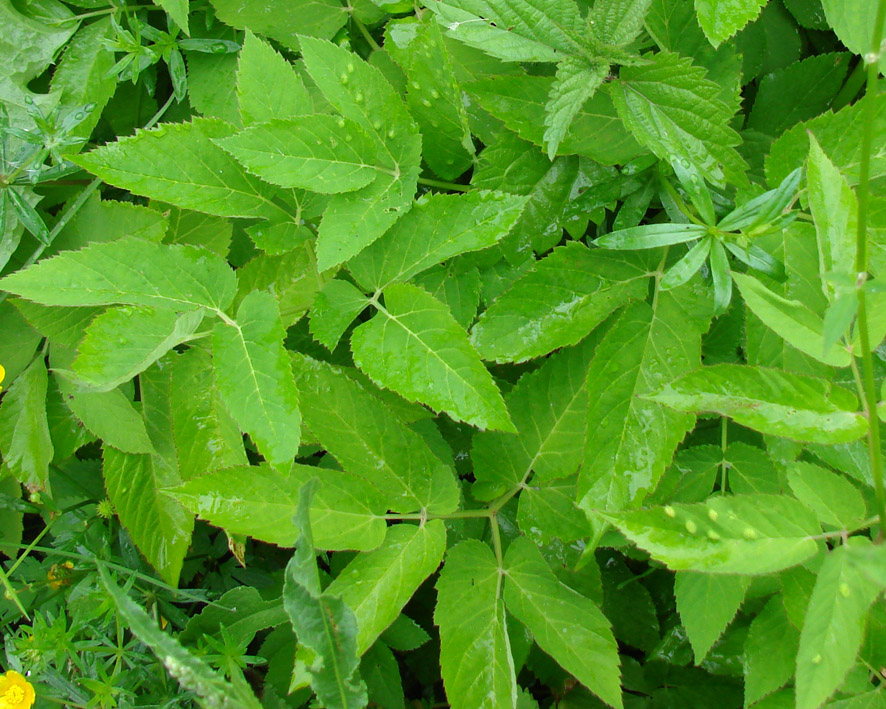
[[[26,485],[45,489],[52,461],[46,418],[48,377],[43,357],[35,357],[3,395],[0,405],[0,452],[3,467]]]

